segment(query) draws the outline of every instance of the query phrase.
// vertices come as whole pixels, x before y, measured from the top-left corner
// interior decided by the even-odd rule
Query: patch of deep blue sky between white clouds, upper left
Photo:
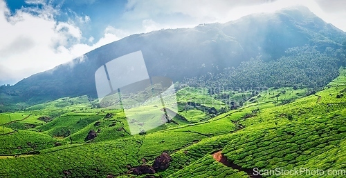
[[[40,1],[26,1],[26,0],[6,0],[7,6],[11,14],[15,14],[16,10],[22,8],[42,8]],[[126,0],[77,0],[77,1],[42,1],[48,3],[55,9],[59,9],[59,13],[55,14],[56,21],[75,21],[78,23],[78,18],[85,18],[86,16],[91,23],[76,24],[82,30],[84,37],[93,37],[100,39],[103,36],[103,31],[107,26],[116,28],[126,28],[126,24],[120,22],[121,16],[125,12]],[[83,39],[82,42],[88,42],[88,39]]]

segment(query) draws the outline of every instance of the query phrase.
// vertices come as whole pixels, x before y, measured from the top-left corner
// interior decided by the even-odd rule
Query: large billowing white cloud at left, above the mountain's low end
[[[22,8],[9,16],[6,3],[0,0],[0,84],[5,81],[14,84],[125,35],[122,30],[109,27],[99,41],[89,46],[81,43],[84,37],[74,21],[55,21],[54,16],[60,13],[59,10],[44,1],[30,3],[42,4],[43,8]],[[82,18],[84,23],[90,20],[89,16]],[[93,41],[90,37],[89,42]]]

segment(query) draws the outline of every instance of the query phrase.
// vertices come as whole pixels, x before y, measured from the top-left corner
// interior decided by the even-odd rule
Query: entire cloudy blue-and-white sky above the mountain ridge
[[[295,5],[346,31],[346,0],[0,0],[0,85],[130,34],[225,23]]]

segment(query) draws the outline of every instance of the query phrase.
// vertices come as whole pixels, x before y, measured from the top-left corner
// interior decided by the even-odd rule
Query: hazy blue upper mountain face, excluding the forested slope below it
[[[302,6],[251,14],[228,23],[133,34],[15,86],[1,88],[0,107],[11,102],[30,104],[80,95],[96,98],[95,71],[108,61],[138,50],[143,53],[149,76],[169,77],[175,82],[236,68],[257,56],[263,61],[275,61],[293,47],[337,50],[343,41],[345,32]]]

